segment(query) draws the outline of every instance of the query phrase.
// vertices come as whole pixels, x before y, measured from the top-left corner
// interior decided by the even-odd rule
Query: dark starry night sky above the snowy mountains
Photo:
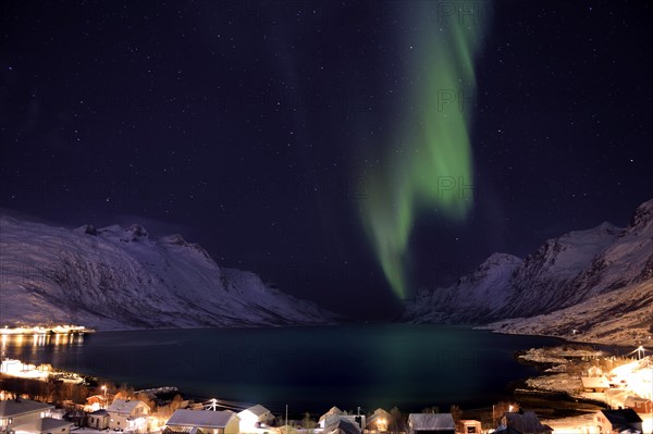
[[[401,156],[447,110],[468,122],[464,208],[412,209],[404,296],[626,225],[653,197],[652,22],[646,1],[2,1],[0,207],[181,233],[220,265],[390,319],[402,295],[366,227],[391,222],[392,239],[397,184],[443,179]],[[477,45],[471,78],[447,25]],[[466,98],[433,101],[439,74]]]

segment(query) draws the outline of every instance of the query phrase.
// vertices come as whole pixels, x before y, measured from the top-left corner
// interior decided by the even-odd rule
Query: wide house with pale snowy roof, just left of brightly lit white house
[[[239,418],[233,411],[176,410],[165,422],[164,434],[238,434]]]

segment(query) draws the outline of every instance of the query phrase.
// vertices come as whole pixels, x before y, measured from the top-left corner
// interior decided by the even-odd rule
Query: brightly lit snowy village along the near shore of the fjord
[[[2,434],[608,434],[652,433],[653,357],[614,362],[599,352],[531,349],[526,361],[547,363],[547,374],[529,379],[539,390],[603,402],[571,418],[542,418],[518,402],[498,402],[491,416],[428,408],[419,413],[344,411],[332,407],[321,416],[288,419],[284,411],[220,399],[185,399],[175,387],[133,390],[123,385],[89,383],[89,379],[3,360],[0,367],[0,433]],[[586,368],[584,370],[579,370]],[[588,368],[589,367],[589,368]],[[612,368],[612,369],[611,369]],[[526,390],[516,390],[516,393]],[[532,392],[532,390],[531,390]],[[527,392],[526,392],[527,393]],[[519,396],[516,394],[516,396]],[[56,402],[57,405],[52,404]]]

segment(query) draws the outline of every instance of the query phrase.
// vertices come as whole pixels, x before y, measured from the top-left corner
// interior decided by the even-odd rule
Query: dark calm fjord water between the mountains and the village
[[[310,328],[164,330],[5,342],[3,352],[33,363],[136,387],[176,386],[192,396],[289,405],[419,411],[489,406],[537,371],[514,352],[555,345],[546,337],[498,335],[463,326],[346,325]]]

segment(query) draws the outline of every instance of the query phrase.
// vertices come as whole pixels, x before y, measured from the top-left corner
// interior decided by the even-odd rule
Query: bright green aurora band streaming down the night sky
[[[451,1],[409,2],[408,20],[419,32],[419,51],[408,64],[412,89],[404,109],[409,119],[399,122],[380,164],[362,175],[361,219],[398,298],[406,298],[409,288],[408,244],[417,213],[435,211],[461,222],[472,207],[469,112],[476,95],[473,59],[483,34],[478,8],[488,3],[461,3],[467,9]]]

